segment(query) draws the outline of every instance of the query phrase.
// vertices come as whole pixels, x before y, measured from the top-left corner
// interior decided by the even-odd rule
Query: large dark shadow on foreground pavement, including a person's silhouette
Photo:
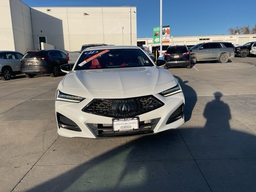
[[[54,171],[67,171],[41,184],[36,180],[39,184],[26,191],[256,191],[256,137],[230,128],[230,108],[221,97],[216,92],[200,114],[207,119],[204,127],[185,126],[135,137],[84,164],[43,166],[38,169],[41,174],[46,169],[44,175],[38,177],[37,170],[29,173],[26,182],[30,186],[33,174],[46,180]],[[76,144],[85,140],[76,140]],[[101,141],[103,147],[108,142]]]

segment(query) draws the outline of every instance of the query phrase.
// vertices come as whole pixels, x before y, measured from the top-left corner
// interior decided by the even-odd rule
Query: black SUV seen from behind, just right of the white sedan
[[[173,66],[186,66],[191,68],[191,56],[186,45],[170,46],[164,54],[164,60],[166,60],[166,68]]]

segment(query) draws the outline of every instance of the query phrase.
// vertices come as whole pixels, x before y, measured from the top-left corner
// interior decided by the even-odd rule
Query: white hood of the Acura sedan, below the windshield
[[[175,86],[172,74],[155,66],[72,71],[62,81],[63,89],[68,89],[68,92],[72,89],[72,92],[78,94],[82,90],[87,97],[90,93],[89,97],[92,98],[109,98],[113,97],[113,93],[122,97],[125,94],[128,96],[128,92],[134,96],[150,95],[159,90],[164,91],[172,84]]]

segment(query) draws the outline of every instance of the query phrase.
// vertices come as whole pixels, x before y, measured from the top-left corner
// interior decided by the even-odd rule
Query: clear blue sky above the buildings
[[[160,25],[160,0],[22,0],[40,6],[136,6],[137,38],[152,37]],[[162,0],[163,26],[170,36],[228,34],[228,28],[256,24],[256,0]]]

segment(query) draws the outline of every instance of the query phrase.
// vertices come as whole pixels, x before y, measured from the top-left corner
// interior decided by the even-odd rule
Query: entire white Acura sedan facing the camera
[[[56,92],[58,134],[116,137],[152,134],[184,124],[184,95],[164,66],[136,46],[84,50]]]

